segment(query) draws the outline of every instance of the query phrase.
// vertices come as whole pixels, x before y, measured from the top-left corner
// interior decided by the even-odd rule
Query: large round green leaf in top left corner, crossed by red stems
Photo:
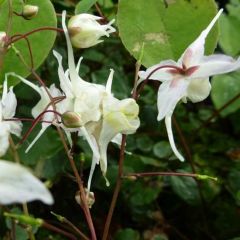
[[[39,12],[36,17],[31,20],[25,20],[22,17],[13,15],[12,29],[10,35],[25,34],[34,29],[41,27],[56,27],[57,19],[54,8],[50,0],[29,0],[28,4],[36,5],[39,7]],[[17,13],[21,13],[21,1],[13,1],[13,9]],[[0,31],[6,31],[8,20],[8,3],[7,1],[1,6],[0,9]],[[31,34],[28,39],[32,48],[33,62],[35,69],[38,68],[45,58],[48,56],[53,43],[56,38],[55,31],[40,31]],[[30,64],[29,49],[24,39],[14,44],[15,48],[20,51],[25,61]],[[7,72],[15,72],[23,77],[29,75],[29,71],[19,60],[13,48],[10,48],[6,55],[3,56],[3,66],[0,66],[0,79],[4,80],[4,74]]]

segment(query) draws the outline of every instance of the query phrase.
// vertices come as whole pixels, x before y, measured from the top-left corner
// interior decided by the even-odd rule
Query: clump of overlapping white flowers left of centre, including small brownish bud
[[[96,164],[100,163],[101,170],[105,177],[107,171],[107,146],[110,141],[118,142],[121,134],[132,134],[140,125],[138,119],[139,108],[133,99],[118,100],[111,93],[113,80],[113,70],[110,71],[106,86],[93,84],[84,81],[79,77],[79,69],[82,58],[77,66],[75,65],[73,49],[65,24],[66,12],[63,12],[62,26],[67,40],[68,48],[68,69],[64,71],[62,66],[62,56],[53,51],[58,61],[58,76],[62,94],[54,85],[49,89],[53,97],[65,96],[61,102],[56,104],[56,110],[62,114],[63,124],[60,126],[64,129],[70,145],[71,132],[78,132],[83,136],[92,152],[92,166],[88,181],[88,190]],[[46,109],[52,109],[49,105],[50,99],[43,87],[38,87],[26,79],[14,73],[8,73],[18,77],[37,91],[41,97],[39,103],[33,108],[32,115],[36,118]],[[43,120],[49,123],[42,123],[42,130],[28,147],[27,151],[37,141],[48,126],[56,125],[53,113],[45,113]],[[64,123],[66,125],[64,125]],[[74,123],[74,126],[72,125]],[[76,125],[75,125],[76,124]]]

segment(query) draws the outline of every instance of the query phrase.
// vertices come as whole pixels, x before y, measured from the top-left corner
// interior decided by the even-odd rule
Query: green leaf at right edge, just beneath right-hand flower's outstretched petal
[[[212,79],[211,98],[216,109],[221,108],[224,104],[240,93],[240,73],[215,76]],[[237,99],[221,111],[223,117],[237,111],[240,108],[240,100]]]

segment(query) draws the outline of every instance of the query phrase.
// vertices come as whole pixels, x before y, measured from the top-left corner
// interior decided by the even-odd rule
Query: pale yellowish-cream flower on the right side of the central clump
[[[112,79],[112,75],[110,75],[109,79],[110,78]],[[108,88],[108,86],[110,88]],[[90,190],[95,166],[99,164],[99,162],[103,176],[106,179],[108,144],[111,141],[119,143],[118,138],[120,134],[133,134],[136,132],[140,126],[138,113],[139,107],[134,99],[127,98],[118,100],[111,94],[111,84],[107,85],[106,93],[102,99],[101,119],[98,122],[90,122],[86,125],[86,130],[91,137],[92,145],[95,146],[88,180],[88,190]],[[107,185],[109,185],[108,181]]]

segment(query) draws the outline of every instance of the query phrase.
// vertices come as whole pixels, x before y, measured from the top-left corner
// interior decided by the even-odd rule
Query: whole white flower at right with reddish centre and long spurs
[[[187,47],[177,62],[165,60],[146,71],[139,72],[138,84],[145,79],[162,82],[158,90],[157,120],[161,121],[165,118],[170,145],[174,154],[181,161],[184,161],[184,158],[175,146],[171,126],[171,116],[177,103],[180,100],[183,102],[190,100],[194,103],[203,101],[211,90],[210,76],[235,71],[240,67],[240,58],[235,60],[223,54],[204,56],[205,39],[222,11],[223,9],[217,13],[198,38]]]

